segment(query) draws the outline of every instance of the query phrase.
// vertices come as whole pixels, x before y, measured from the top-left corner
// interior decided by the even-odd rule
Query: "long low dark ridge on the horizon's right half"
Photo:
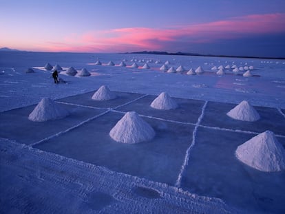
[[[158,55],[178,55],[178,56],[210,56],[210,57],[229,57],[229,58],[268,58],[268,59],[285,59],[285,57],[269,57],[269,56],[228,56],[228,55],[213,55],[213,54],[196,54],[187,52],[160,52],[160,51],[142,51],[142,52],[125,52],[123,54],[158,54]]]

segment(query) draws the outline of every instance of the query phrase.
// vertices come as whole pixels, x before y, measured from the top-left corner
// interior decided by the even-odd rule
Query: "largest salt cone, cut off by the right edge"
[[[285,170],[285,150],[271,131],[264,131],[237,147],[235,156],[260,171]]]

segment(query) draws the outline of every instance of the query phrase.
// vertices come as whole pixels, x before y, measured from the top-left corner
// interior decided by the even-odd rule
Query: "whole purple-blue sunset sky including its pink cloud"
[[[0,47],[285,57],[284,0],[0,0]]]

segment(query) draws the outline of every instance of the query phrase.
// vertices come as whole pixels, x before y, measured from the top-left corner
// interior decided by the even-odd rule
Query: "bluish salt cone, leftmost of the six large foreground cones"
[[[56,120],[69,115],[68,111],[63,109],[50,98],[43,98],[29,115],[29,120],[34,122],[43,122],[47,120]]]

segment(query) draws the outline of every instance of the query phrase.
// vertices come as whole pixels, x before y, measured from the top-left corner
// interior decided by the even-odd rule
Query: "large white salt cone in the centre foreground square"
[[[117,122],[109,135],[117,142],[133,144],[151,140],[156,133],[135,111],[130,111]]]

